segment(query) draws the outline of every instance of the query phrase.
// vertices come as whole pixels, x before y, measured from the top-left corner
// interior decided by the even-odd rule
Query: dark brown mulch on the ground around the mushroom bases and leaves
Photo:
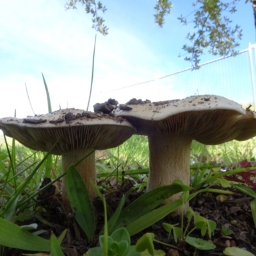
[[[123,186],[120,184],[115,184],[115,187],[112,188],[111,191],[106,193],[106,202],[109,207],[115,211],[116,207],[120,202],[120,198],[124,195],[129,189],[132,187],[131,180],[125,180]],[[223,189],[223,188],[221,188]],[[256,255],[256,234],[255,234],[255,225],[253,223],[252,212],[250,211],[250,200],[252,198],[244,195],[243,193],[236,191],[235,189],[230,189],[235,192],[234,195],[228,195],[227,200],[221,202],[218,201],[214,193],[201,193],[197,195],[191,202],[189,202],[190,207],[193,211],[198,212],[201,216],[207,218],[207,220],[215,221],[217,224],[216,229],[212,233],[212,237],[202,237],[200,234],[200,230],[195,230],[191,236],[199,237],[205,239],[207,241],[212,241],[216,245],[214,250],[204,250],[197,252],[196,255],[216,255],[221,256],[223,254],[223,250],[227,248],[227,246],[236,246],[239,248],[243,248],[248,250],[248,252]],[[135,190],[127,198],[125,202],[125,206],[130,204],[133,200],[138,198],[138,196],[142,195],[143,192],[136,192]],[[65,251],[65,255],[68,256],[78,256],[83,255],[89,248],[94,246],[99,246],[98,237],[95,237],[93,241],[88,241],[83,234],[83,231],[78,227],[76,222],[74,221],[74,214],[72,212],[63,211],[63,207],[61,206],[61,198],[57,196],[52,197],[52,189],[51,187],[44,192],[43,195],[38,197],[38,202],[41,207],[44,207],[46,211],[41,213],[42,217],[53,224],[53,227],[49,227],[42,222],[33,219],[29,220],[31,223],[38,223],[38,230],[47,230],[47,234],[45,237],[49,238],[49,234],[51,231],[56,234],[56,236],[60,236],[61,232],[68,229],[67,236],[65,237],[65,241],[63,244],[69,246],[69,248]],[[97,230],[96,234],[99,234],[99,230],[103,227],[104,224],[104,209],[102,206],[102,202],[99,199],[96,199],[94,202],[95,211],[97,212]],[[186,225],[186,218],[184,218]],[[143,230],[140,234],[131,237],[131,243],[135,244],[138,239],[145,234],[145,232],[153,232],[155,234],[155,238],[164,243],[172,244],[173,246],[177,246],[178,250],[173,249],[168,246],[163,246],[159,243],[154,243],[155,248],[161,249],[166,252],[166,256],[192,256],[195,252],[195,248],[189,246],[182,241],[179,243],[175,243],[173,236],[168,234],[162,226],[162,223],[179,223],[180,227],[180,216],[172,213],[163,220],[158,223],[152,225],[152,227]],[[193,222],[193,221],[191,221]],[[18,223],[20,225],[24,225],[24,223]],[[25,223],[27,224],[27,223]],[[190,227],[193,227],[191,225]],[[225,236],[221,234],[221,228],[225,227],[226,229],[232,230],[232,234],[229,236]],[[25,253],[22,250],[14,250],[10,249],[4,250],[5,256],[7,255],[22,255]],[[31,252],[26,252],[31,253]]]

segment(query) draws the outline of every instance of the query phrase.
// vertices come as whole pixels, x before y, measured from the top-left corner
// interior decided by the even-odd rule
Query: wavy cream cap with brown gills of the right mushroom
[[[208,145],[248,140],[256,135],[255,113],[217,95],[126,104],[113,114],[131,122],[138,134],[184,134]]]

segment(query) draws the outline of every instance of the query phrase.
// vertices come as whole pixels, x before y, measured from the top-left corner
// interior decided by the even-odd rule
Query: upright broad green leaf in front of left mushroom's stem
[[[92,239],[95,233],[95,213],[92,200],[81,175],[79,175],[73,164],[68,167],[65,182],[76,221],[84,230],[86,236]]]

